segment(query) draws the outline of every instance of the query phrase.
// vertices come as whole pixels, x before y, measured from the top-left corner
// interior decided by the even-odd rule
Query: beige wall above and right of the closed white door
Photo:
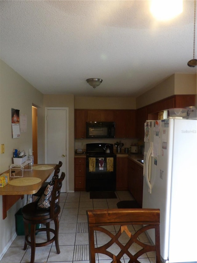
[[[44,95],[44,107],[68,107],[68,189],[74,191],[74,95]]]

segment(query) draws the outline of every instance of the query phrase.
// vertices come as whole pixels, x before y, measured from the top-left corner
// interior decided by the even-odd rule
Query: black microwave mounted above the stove
[[[115,122],[86,122],[86,138],[115,138]]]

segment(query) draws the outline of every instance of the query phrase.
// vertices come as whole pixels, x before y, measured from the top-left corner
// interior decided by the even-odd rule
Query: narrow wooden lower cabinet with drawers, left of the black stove
[[[86,158],[74,158],[74,191],[86,190]]]

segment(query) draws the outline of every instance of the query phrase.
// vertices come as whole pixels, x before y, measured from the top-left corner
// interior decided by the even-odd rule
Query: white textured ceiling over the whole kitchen
[[[174,73],[195,74],[194,1],[165,23],[149,3],[0,1],[0,57],[43,94],[139,96]],[[87,78],[103,82],[94,89]]]

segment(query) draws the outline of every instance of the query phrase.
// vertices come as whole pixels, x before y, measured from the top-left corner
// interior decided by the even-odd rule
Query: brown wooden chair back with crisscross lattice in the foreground
[[[159,209],[95,209],[87,210],[86,214],[90,263],[95,263],[95,256],[98,260],[99,258],[112,259],[111,262],[114,263],[124,262],[123,257],[129,258],[128,262],[137,263],[140,262],[139,257],[151,251],[155,251],[156,263],[160,263]],[[114,226],[114,232],[109,226]],[[150,229],[155,231],[155,245],[147,242],[149,240],[145,231]],[[126,241],[121,242],[122,234],[124,237],[127,234]],[[106,244],[100,245],[102,241],[98,242],[101,235],[103,240],[107,238]],[[146,242],[144,242],[144,235]],[[116,250],[113,249],[114,247]]]

